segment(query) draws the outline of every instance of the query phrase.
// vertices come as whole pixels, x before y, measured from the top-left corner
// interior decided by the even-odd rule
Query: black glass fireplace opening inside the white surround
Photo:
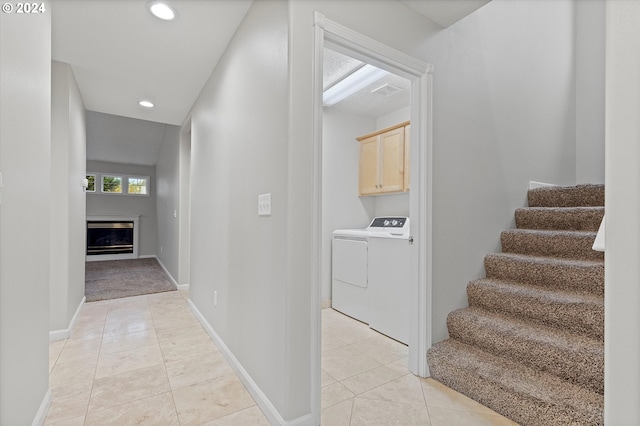
[[[87,255],[133,253],[132,221],[88,221]]]

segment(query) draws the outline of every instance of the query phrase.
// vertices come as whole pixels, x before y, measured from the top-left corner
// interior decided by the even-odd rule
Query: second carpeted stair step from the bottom
[[[447,318],[449,336],[495,355],[517,360],[532,368],[547,371],[571,383],[604,393],[604,349],[584,346],[559,347],[552,341],[522,336],[512,330],[495,330],[476,322],[464,311]]]

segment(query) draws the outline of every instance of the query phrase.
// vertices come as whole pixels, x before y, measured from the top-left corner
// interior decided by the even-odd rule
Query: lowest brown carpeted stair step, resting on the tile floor
[[[428,357],[436,380],[522,424],[602,424],[603,395],[552,374],[455,339]]]

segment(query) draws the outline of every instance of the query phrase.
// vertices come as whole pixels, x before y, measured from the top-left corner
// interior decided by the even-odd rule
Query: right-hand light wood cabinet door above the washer
[[[380,138],[380,184],[382,192],[404,188],[404,127],[383,133]]]

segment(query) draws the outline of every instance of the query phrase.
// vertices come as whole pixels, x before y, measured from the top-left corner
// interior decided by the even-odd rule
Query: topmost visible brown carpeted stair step
[[[527,195],[530,207],[604,206],[604,185],[537,188]]]

